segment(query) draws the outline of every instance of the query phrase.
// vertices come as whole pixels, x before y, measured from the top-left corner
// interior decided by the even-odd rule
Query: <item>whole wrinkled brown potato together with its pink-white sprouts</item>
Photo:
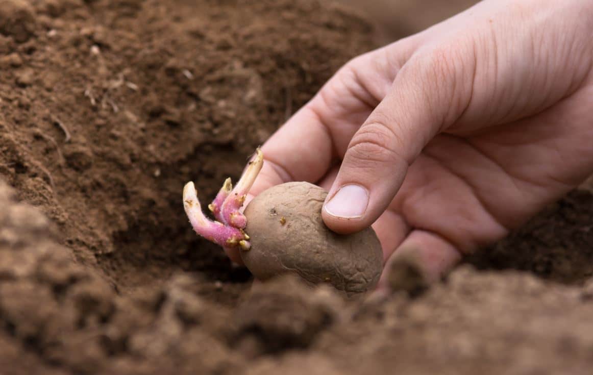
[[[308,182],[288,182],[269,188],[240,212],[262,169],[263,154],[250,162],[232,188],[225,181],[208,207],[208,219],[188,182],[183,204],[196,232],[224,248],[238,248],[258,280],[294,273],[308,283],[329,283],[346,296],[373,289],[380,278],[381,244],[371,228],[350,235],[332,232],[321,220],[327,191]]]

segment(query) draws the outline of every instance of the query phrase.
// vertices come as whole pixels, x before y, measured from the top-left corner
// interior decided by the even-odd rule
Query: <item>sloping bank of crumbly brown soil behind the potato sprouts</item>
[[[245,281],[187,230],[183,182],[208,197],[237,178],[371,47],[368,26],[314,1],[31,3],[0,13],[0,175],[120,289],[178,269]],[[28,40],[21,13],[34,14]]]

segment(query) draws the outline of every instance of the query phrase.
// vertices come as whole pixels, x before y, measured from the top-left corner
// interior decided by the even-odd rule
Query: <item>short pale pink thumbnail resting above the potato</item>
[[[356,219],[366,211],[369,193],[361,185],[344,185],[336,195],[326,203],[324,209],[331,216]]]

